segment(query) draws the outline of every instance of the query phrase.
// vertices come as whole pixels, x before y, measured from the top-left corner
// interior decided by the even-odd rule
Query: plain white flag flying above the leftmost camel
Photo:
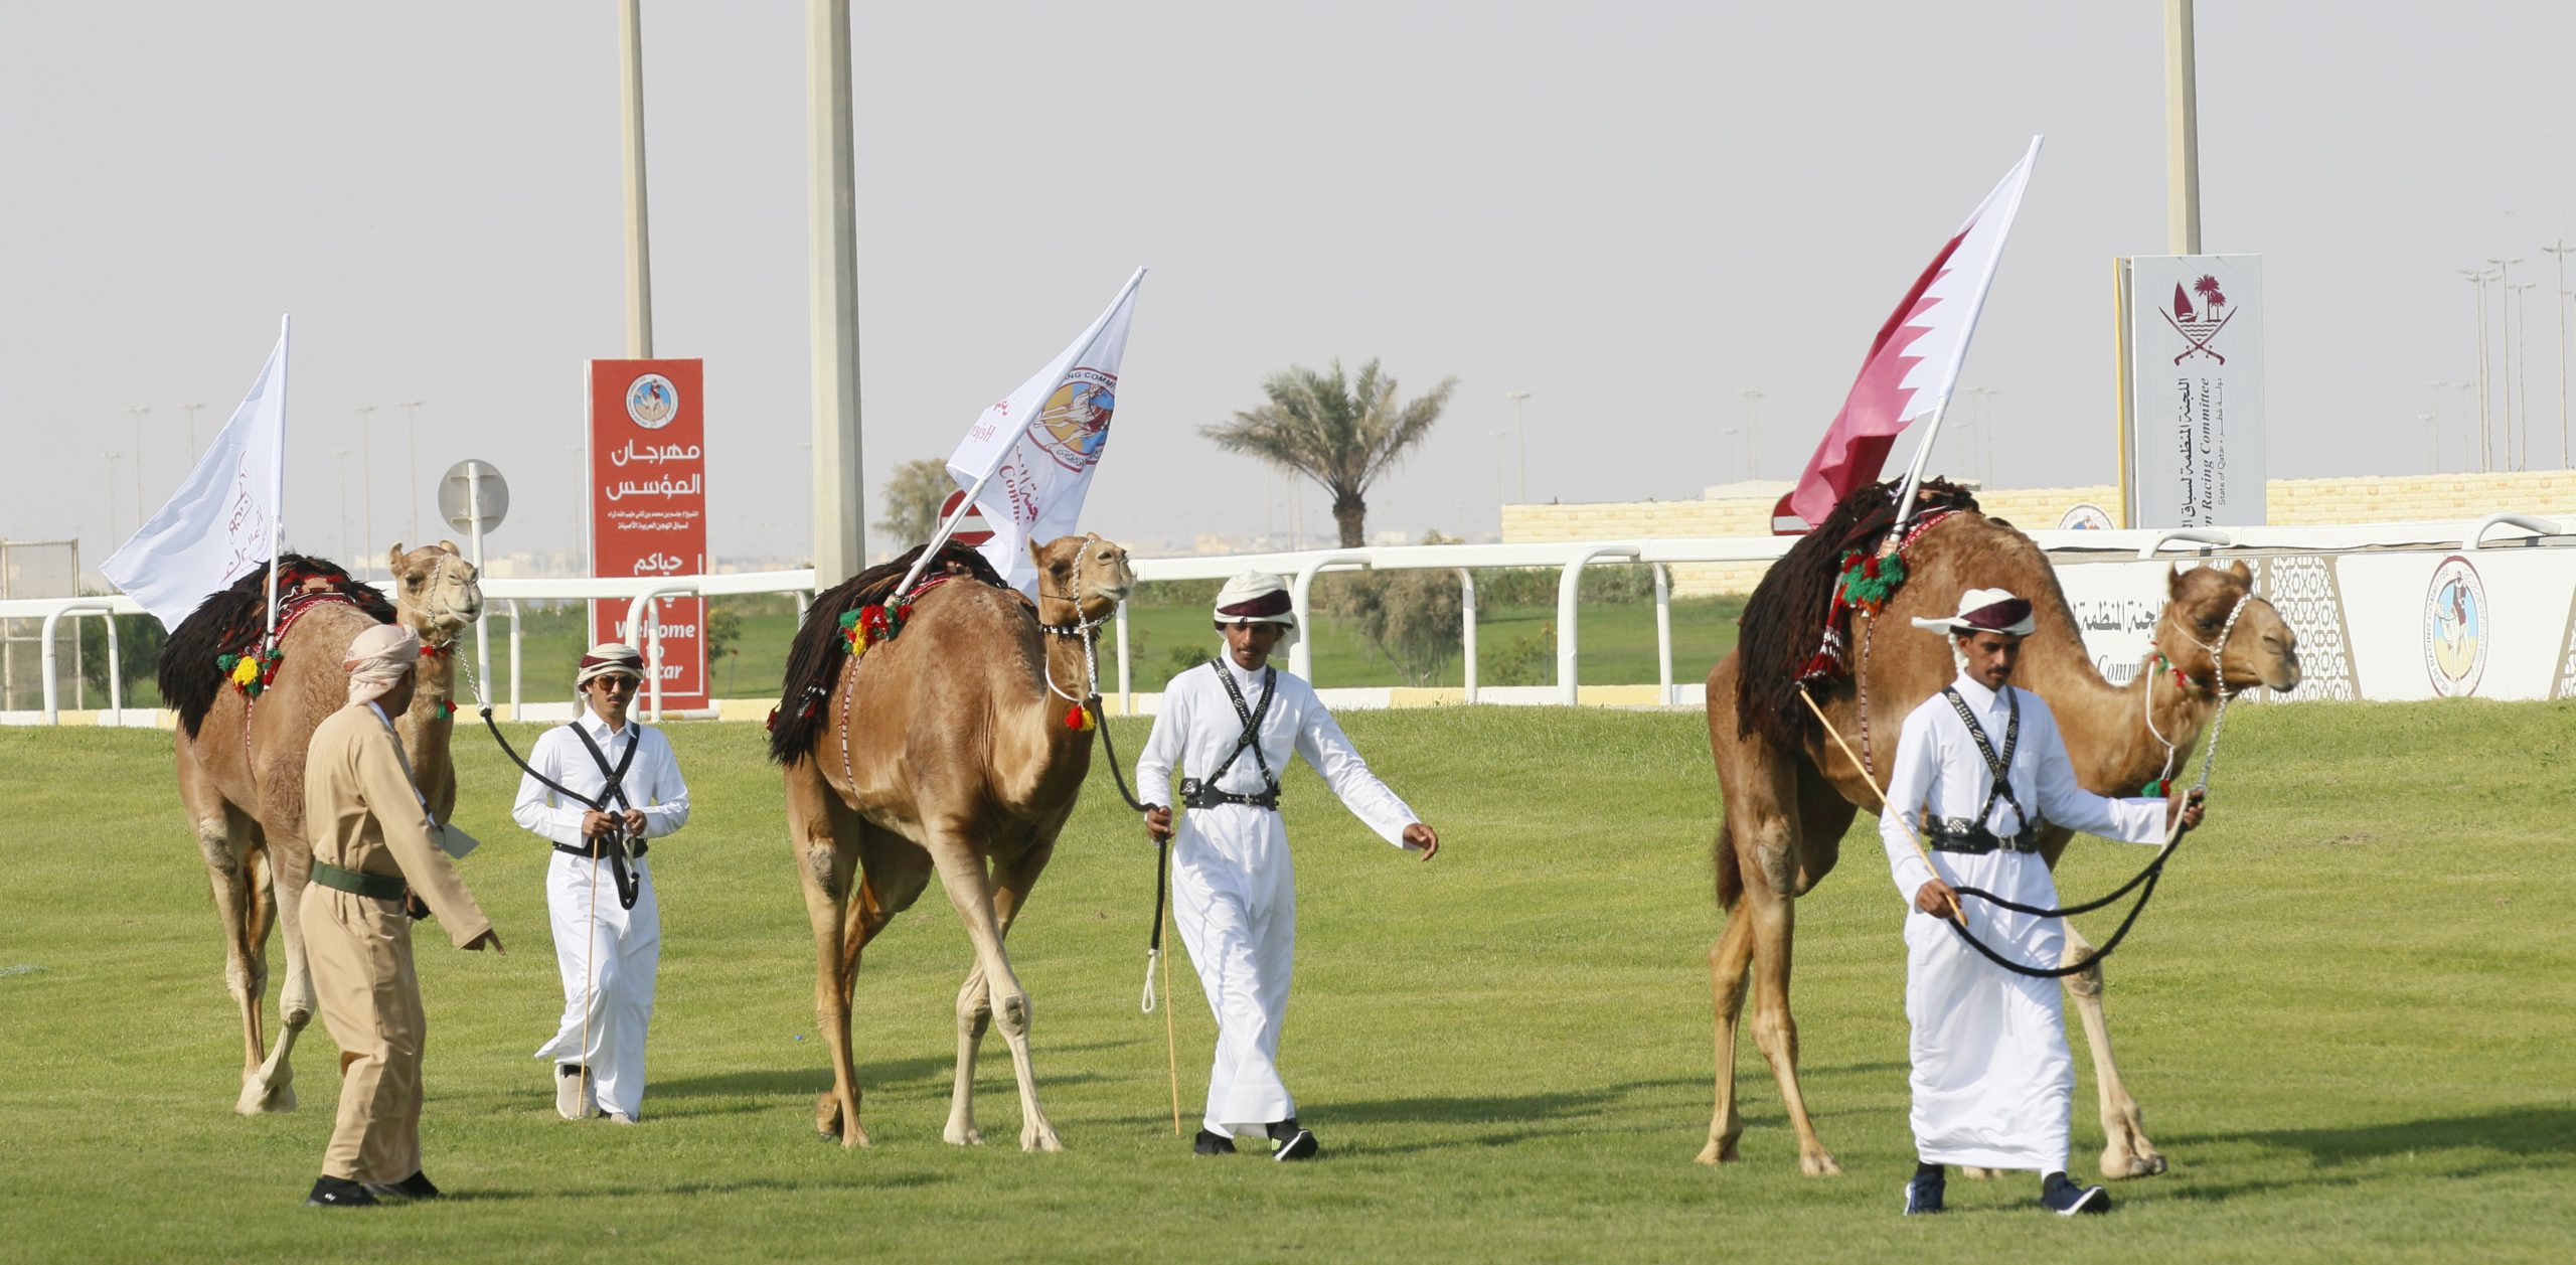
[[[211,593],[250,575],[276,549],[286,482],[286,327],[242,407],[167,505],[126,538],[98,575],[178,629]]]

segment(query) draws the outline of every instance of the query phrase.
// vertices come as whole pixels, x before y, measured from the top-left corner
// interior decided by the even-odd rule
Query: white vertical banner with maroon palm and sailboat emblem
[[[2138,255],[2120,276],[2128,526],[2262,526],[2262,255]]]

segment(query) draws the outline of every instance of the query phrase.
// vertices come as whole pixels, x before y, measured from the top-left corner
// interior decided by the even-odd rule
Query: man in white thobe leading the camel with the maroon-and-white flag
[[[1958,616],[1917,618],[1950,636],[1960,672],[1917,706],[1896,739],[1888,809],[1878,837],[1896,891],[1922,917],[1906,920],[1906,1020],[1914,1025],[1914,1180],[1906,1213],[1942,1211],[1945,1165],[2040,1172],[2040,1206],[2107,1213],[2099,1185],[2066,1177],[2066,1131],[2076,1069],[2056,979],[1986,961],[1955,927],[1958,886],[2053,909],[2058,889],[2038,853],[2045,824],[2125,842],[2164,842],[2161,799],[2105,799],[2076,786],[2066,739],[2048,703],[2009,685],[2030,603],[1984,587],[1960,595]],[[2004,768],[2004,778],[1994,768]],[[2197,799],[2182,809],[2200,824]],[[1927,863],[1922,840],[1940,871]],[[1986,902],[1965,925],[2004,958],[2056,966],[2066,927]]]

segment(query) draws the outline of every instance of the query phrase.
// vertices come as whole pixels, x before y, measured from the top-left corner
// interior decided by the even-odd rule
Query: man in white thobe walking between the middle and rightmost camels
[[[1280,1023],[1296,948],[1296,873],[1278,812],[1278,773],[1303,755],[1332,794],[1386,842],[1430,861],[1440,835],[1386,788],[1303,680],[1270,667],[1296,636],[1288,585],[1244,572],[1216,595],[1226,652],[1162,690],[1154,734],[1136,757],[1136,794],[1154,842],[1172,842],[1172,922],[1216,1013],[1208,1110],[1193,1149],[1234,1154],[1234,1139],[1270,1139],[1273,1159],[1314,1159],[1321,1146],[1296,1118],[1278,1072]],[[1255,742],[1244,742],[1252,734]],[[1190,809],[1172,824],[1172,773]]]

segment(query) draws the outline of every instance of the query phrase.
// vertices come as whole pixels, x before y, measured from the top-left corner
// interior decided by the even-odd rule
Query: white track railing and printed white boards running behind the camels
[[[2244,559],[2257,575],[2257,593],[2269,598],[2300,636],[2306,683],[2300,698],[2568,698],[2576,696],[2576,536],[2558,523],[2527,515],[2488,515],[2468,523],[2372,523],[2313,528],[2197,528],[2197,531],[2035,531],[2040,549],[2058,564],[2058,582],[2087,629],[2094,662],[2112,680],[2128,680],[2146,652],[2146,631],[2164,611],[2164,585],[2174,564]],[[1247,569],[1280,572],[1291,582],[1296,613],[1309,618],[1314,577],[1327,569],[1450,569],[1458,572],[1466,629],[1466,685],[1440,688],[1334,688],[1319,693],[1340,709],[1440,706],[1440,703],[1517,703],[1517,706],[1700,706],[1708,665],[1672,662],[1674,562],[1775,562],[1788,538],[1649,538],[1649,541],[1561,541],[1561,544],[1443,544],[1388,549],[1324,549],[1303,554],[1226,554],[1185,559],[1136,559],[1139,580],[1224,580]],[[1582,685],[1574,665],[1582,652],[1577,577],[1584,567],[1646,564],[1656,572],[1659,680],[1636,685]],[[1556,585],[1556,683],[1492,688],[1476,683],[1476,587],[1468,569],[1553,567]],[[814,572],[742,572],[654,580],[484,580],[484,618],[510,623],[510,680],[520,678],[518,603],[523,600],[626,600],[631,626],[670,595],[811,595]],[[0,600],[0,618],[41,618],[46,634],[62,618],[93,613],[142,613],[131,598],[28,598]],[[52,636],[46,636],[52,644]],[[1113,714],[1151,714],[1159,703],[1136,680],[1126,654],[1126,616],[1103,647],[1100,685]],[[647,654],[659,654],[649,644]],[[1314,680],[1309,647],[1298,642],[1288,667]],[[492,680],[489,662],[474,665],[474,680]],[[54,680],[59,672],[46,672]],[[1139,690],[1146,685],[1146,690]],[[2254,696],[2249,696],[2254,698]],[[569,719],[572,703],[500,698],[510,719]],[[701,711],[672,711],[688,719],[762,719],[770,698],[726,701]],[[644,716],[657,719],[659,698],[644,701]],[[0,724],[124,724],[167,727],[170,714],[111,706],[106,711],[62,711],[46,696],[41,711],[0,711]]]

